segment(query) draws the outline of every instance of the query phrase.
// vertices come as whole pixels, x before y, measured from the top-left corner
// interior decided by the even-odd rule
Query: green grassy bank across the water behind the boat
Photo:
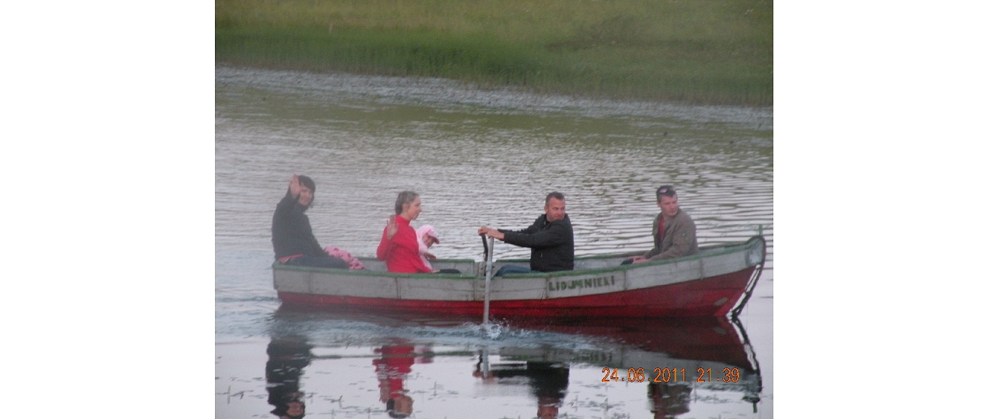
[[[216,59],[772,104],[772,2],[216,0]]]

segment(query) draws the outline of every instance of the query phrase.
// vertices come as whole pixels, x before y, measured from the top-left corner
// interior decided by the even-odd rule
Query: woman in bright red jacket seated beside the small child
[[[422,212],[419,194],[404,191],[395,200],[395,215],[388,218],[388,225],[378,244],[378,260],[385,261],[388,272],[404,274],[431,273],[433,271],[419,258],[419,240],[415,229],[408,223]]]

